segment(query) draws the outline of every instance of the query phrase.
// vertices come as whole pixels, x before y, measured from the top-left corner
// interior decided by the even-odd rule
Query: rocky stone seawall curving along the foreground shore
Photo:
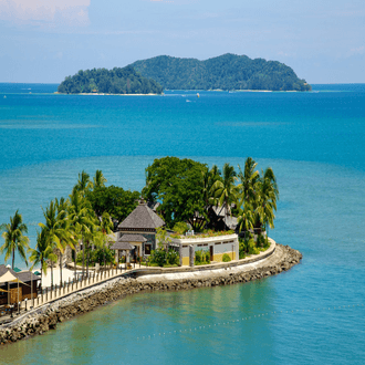
[[[298,264],[302,254],[289,246],[277,243],[275,252],[269,258],[229,269],[204,272],[148,275],[137,279],[116,278],[82,292],[71,294],[51,304],[39,307],[28,316],[0,327],[0,345],[15,342],[35,334],[55,328],[58,323],[73,316],[93,311],[94,309],[118,300],[125,295],[166,291],[189,290],[204,286],[231,285],[246,283],[270,275],[279,274]]]

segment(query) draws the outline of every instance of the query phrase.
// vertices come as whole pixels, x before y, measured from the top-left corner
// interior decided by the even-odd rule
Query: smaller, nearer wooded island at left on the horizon
[[[163,91],[155,80],[140,75],[132,66],[81,70],[65,77],[58,88],[62,94],[161,94]]]

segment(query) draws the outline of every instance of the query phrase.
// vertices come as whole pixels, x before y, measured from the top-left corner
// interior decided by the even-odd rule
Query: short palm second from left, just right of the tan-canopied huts
[[[36,244],[35,249],[29,249],[30,258],[29,260],[33,263],[31,270],[36,264],[41,264],[41,283],[42,273],[46,275],[48,263],[46,260],[55,262],[58,257],[53,253],[52,247],[49,246],[48,232],[42,229],[41,232],[36,232]]]

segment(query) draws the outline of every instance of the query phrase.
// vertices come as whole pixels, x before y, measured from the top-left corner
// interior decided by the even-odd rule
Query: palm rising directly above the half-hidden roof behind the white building
[[[225,164],[221,180],[217,180],[212,186],[217,198],[216,204],[221,207],[220,211],[226,208],[227,215],[231,213],[231,204],[237,202],[238,187],[234,185],[236,180],[237,174],[233,166]]]

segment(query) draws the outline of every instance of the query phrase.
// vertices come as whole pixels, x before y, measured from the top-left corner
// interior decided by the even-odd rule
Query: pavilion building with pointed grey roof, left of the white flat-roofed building
[[[115,248],[127,239],[135,247],[134,255],[149,255],[156,249],[156,229],[164,226],[165,221],[142,199],[136,209],[117,226]]]

